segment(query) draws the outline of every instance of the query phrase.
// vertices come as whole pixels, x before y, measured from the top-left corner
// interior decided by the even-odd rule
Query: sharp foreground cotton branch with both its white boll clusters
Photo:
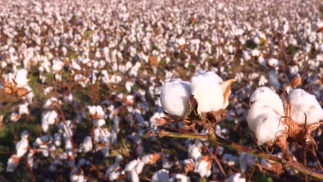
[[[275,146],[281,148],[284,157],[275,157],[232,143],[216,134],[217,123],[226,117],[225,109],[231,94],[231,83],[234,81],[222,81],[214,72],[197,71],[190,83],[180,79],[173,79],[165,83],[161,89],[160,99],[166,117],[162,117],[159,123],[171,125],[183,122],[182,128],[184,130],[176,133],[166,130],[152,131],[148,132],[146,136],[207,139],[220,143],[242,152],[243,155],[239,158],[242,172],[246,170],[246,165],[255,164],[255,159],[248,156],[248,154],[252,154],[282,163],[285,168],[293,168],[323,179],[322,174],[294,161],[287,142],[288,139],[291,139],[292,142],[304,146],[316,145],[311,134],[320,126],[323,110],[315,97],[302,89],[292,90],[290,94],[285,90],[281,96],[284,101],[268,87],[260,87],[253,92],[250,98],[251,108],[246,117],[248,126],[255,136],[255,142],[258,145],[266,145],[267,152],[273,151]],[[194,151],[192,148],[191,154],[194,159],[193,163],[195,163],[194,172],[198,172],[202,177],[210,176],[213,163],[212,155],[203,155]],[[244,161],[247,162],[244,163]],[[204,167],[199,168],[202,165]],[[239,175],[235,174],[228,180],[232,180],[235,176],[239,178]]]

